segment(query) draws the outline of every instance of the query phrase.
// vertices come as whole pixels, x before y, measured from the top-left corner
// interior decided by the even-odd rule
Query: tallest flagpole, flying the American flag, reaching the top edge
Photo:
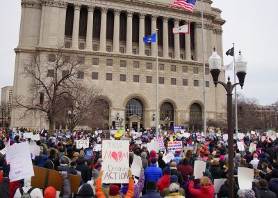
[[[201,17],[202,17],[202,47],[203,47],[203,94],[204,94],[204,107],[203,107],[203,121],[204,121],[204,136],[206,137],[206,65],[204,63],[204,17],[203,17],[203,0],[201,0]]]

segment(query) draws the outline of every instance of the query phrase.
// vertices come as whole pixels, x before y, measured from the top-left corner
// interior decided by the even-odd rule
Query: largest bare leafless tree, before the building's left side
[[[85,73],[83,57],[74,56],[72,52],[59,47],[55,54],[45,55],[37,51],[24,64],[24,77],[33,79],[29,86],[28,98],[15,97],[15,108],[26,112],[42,112],[46,114],[49,132],[54,132],[54,123],[61,98],[72,97],[72,91],[79,89],[78,75]]]

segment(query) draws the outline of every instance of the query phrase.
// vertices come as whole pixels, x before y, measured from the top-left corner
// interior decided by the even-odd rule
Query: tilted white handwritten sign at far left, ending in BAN
[[[9,146],[6,152],[6,158],[10,162],[10,182],[34,175],[28,142]]]

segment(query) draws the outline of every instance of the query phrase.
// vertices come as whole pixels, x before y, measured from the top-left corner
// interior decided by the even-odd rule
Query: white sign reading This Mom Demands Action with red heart
[[[102,160],[102,183],[129,183],[129,141],[104,140]]]

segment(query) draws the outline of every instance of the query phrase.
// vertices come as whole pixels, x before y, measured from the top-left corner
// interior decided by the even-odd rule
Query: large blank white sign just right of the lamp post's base
[[[254,181],[254,169],[238,167],[238,185],[240,189],[252,190]]]

